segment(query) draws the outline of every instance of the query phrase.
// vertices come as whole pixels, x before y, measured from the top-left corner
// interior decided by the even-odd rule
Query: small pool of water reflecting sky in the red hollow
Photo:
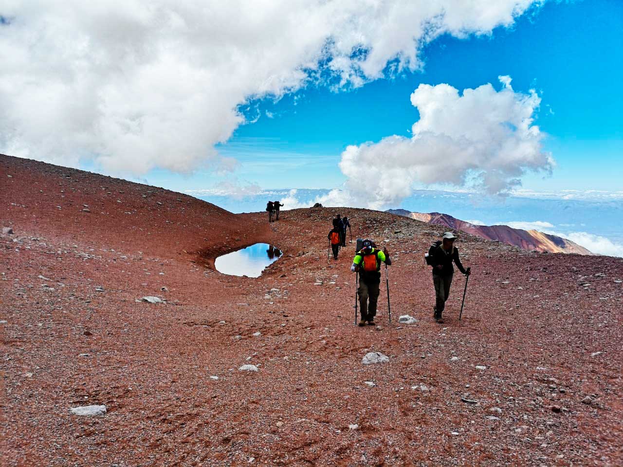
[[[242,250],[219,256],[214,261],[214,267],[222,274],[259,277],[268,265],[282,255],[283,252],[274,245],[255,243]]]

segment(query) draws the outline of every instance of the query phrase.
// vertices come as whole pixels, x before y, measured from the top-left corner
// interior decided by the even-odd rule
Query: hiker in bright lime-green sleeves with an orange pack
[[[381,251],[373,245],[374,242],[366,238],[363,241],[363,248],[354,255],[351,266],[351,271],[359,274],[359,287],[357,288],[359,308],[361,308],[359,326],[365,326],[366,323],[370,326],[376,324],[374,316],[376,316],[376,302],[381,285],[381,263],[391,265],[387,248]]]

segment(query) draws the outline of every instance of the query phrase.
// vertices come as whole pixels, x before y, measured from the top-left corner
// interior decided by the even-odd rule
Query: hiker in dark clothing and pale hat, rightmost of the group
[[[445,302],[450,295],[452,276],[454,275],[455,263],[459,270],[465,275],[469,275],[471,268],[465,269],[459,259],[459,249],[454,246],[457,237],[452,232],[445,232],[442,243],[433,243],[430,248],[430,265],[432,266],[432,281],[435,286],[435,307],[434,318],[437,323],[443,323],[442,313],[444,313]]]

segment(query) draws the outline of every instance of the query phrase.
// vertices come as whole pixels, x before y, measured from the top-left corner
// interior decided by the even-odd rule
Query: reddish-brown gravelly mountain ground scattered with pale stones
[[[383,290],[379,328],[356,328],[354,246],[326,258],[335,212],[269,225],[0,156],[1,464],[623,465],[623,260],[462,235],[463,319],[457,274],[439,325],[435,227],[343,209],[394,260],[392,323]],[[259,241],[285,253],[260,278],[209,268]],[[363,365],[368,351],[389,362]],[[108,413],[68,412],[89,404]]]

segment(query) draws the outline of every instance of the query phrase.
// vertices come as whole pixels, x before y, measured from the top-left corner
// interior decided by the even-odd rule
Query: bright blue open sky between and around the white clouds
[[[219,151],[240,162],[226,177],[265,188],[331,188],[345,181],[337,164],[349,144],[411,136],[418,120],[409,95],[420,83],[463,90],[510,75],[516,92],[541,97],[536,124],[548,136],[553,176],[527,175],[534,190],[623,190],[623,2],[548,2],[491,36],[444,35],[422,51],[424,67],[350,91],[307,87],[278,101],[241,106],[254,123],[239,126]],[[269,118],[270,115],[272,118]],[[146,179],[173,189],[207,188],[211,171],[190,177],[153,171]]]

